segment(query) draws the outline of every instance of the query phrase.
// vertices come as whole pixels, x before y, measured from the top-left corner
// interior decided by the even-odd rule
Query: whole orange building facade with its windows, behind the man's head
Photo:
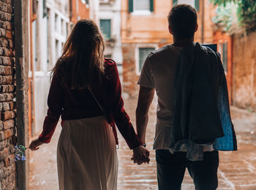
[[[168,31],[167,15],[171,7],[186,3],[197,9],[195,41],[213,42],[211,7],[203,0],[125,0],[121,1],[121,42],[123,53],[124,92],[137,92],[140,69],[149,52],[170,44],[173,39]]]

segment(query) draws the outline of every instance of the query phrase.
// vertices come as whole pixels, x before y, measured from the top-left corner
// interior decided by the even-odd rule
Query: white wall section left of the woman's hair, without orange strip
[[[34,100],[35,100],[35,134],[42,131],[42,124],[47,113],[47,98],[50,87],[49,71],[61,55],[62,46],[67,39],[67,24],[69,23],[69,1],[48,0],[49,19],[43,17],[42,1],[37,7],[37,70],[34,71]],[[55,21],[55,15],[58,19]],[[61,32],[61,19],[64,23]],[[57,30],[55,25],[57,24]],[[56,40],[59,41],[56,47]]]

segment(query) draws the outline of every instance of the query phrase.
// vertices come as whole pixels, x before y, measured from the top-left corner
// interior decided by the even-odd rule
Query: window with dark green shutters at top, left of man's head
[[[153,12],[154,0],[129,0],[129,12]]]

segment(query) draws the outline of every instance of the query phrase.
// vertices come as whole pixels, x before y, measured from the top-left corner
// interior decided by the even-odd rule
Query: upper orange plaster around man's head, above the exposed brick
[[[204,2],[204,15],[202,24],[202,7]],[[121,4],[121,36],[123,43],[161,43],[173,41],[168,32],[167,15],[172,7],[171,1],[154,1],[154,12],[151,15],[133,15],[128,12],[128,1]],[[200,1],[200,11],[197,13],[198,30],[195,33],[195,41],[211,44],[214,39],[212,10],[214,5],[209,1]]]

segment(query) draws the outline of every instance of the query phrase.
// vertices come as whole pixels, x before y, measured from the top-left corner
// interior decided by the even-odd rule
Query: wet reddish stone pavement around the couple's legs
[[[135,106],[137,100],[124,100],[125,108],[135,123]],[[135,165],[130,157],[124,139],[119,134],[118,149],[118,190],[157,189],[157,169],[155,154],[152,149],[154,125],[156,121],[156,100],[150,110],[146,143],[151,152],[149,165]],[[256,190],[256,114],[238,108],[232,108],[233,123],[237,133],[238,151],[219,152],[219,187],[225,190]],[[61,127],[57,127],[50,144],[43,145],[30,154],[30,189],[57,190],[56,144]],[[184,177],[182,190],[194,189],[188,173]],[[206,189],[207,190],[207,189]]]

